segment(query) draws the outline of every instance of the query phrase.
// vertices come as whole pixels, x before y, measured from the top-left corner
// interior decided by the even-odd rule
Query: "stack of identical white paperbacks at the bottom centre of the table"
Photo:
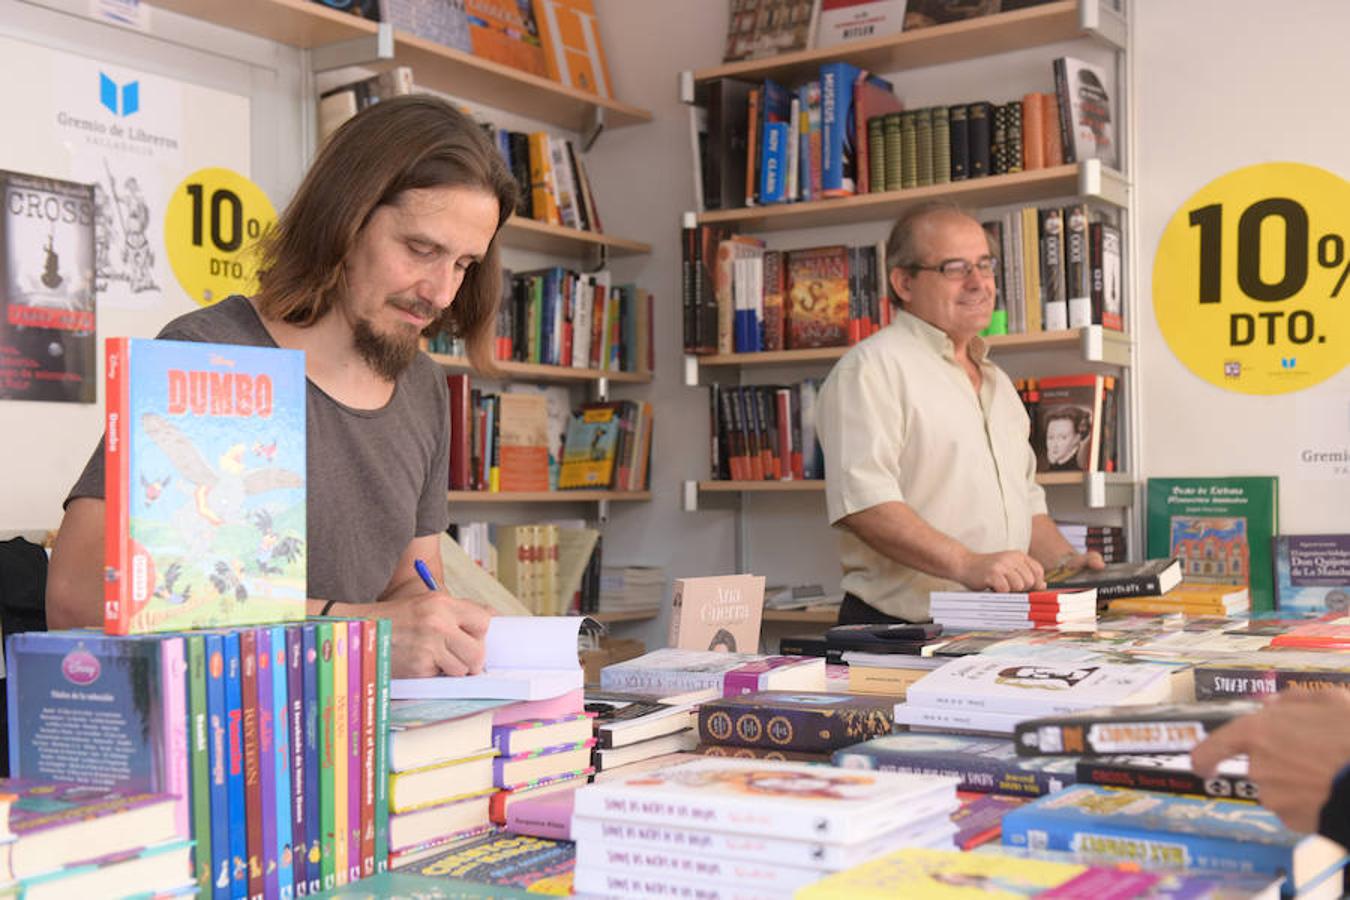
[[[941,776],[697,760],[576,792],[575,888],[786,896],[899,847],[952,847],[956,807],[956,780]]]

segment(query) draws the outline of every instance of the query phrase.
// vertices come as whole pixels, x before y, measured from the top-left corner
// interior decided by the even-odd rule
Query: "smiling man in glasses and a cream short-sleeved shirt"
[[[886,266],[895,321],[834,366],[817,407],[840,623],[922,622],[930,591],[1030,591],[1052,567],[1102,568],[1046,514],[1026,410],[979,336],[998,266],[984,229],[917,205]]]

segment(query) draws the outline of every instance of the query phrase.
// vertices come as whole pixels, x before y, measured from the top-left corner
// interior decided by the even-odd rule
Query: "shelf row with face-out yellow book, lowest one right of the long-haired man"
[[[450,382],[450,487],[458,491],[645,490],[652,405],[583,403],[566,389],[485,393]],[[517,387],[517,386],[510,386]]]

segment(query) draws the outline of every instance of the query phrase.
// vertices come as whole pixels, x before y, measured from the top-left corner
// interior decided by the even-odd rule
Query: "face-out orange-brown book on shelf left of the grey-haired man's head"
[[[787,348],[848,344],[848,247],[787,252]]]

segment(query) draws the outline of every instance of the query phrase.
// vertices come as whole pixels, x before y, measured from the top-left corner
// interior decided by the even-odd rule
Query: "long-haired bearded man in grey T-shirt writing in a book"
[[[450,402],[418,339],[448,331],[491,371],[497,233],[516,185],[450,104],[398,97],[333,134],[263,240],[259,291],[159,337],[305,351],[310,614],[393,621],[393,673],[481,669],[489,614],[441,583]],[[103,619],[103,447],[66,499],[51,555],[51,627]],[[375,603],[374,607],[370,606]]]

